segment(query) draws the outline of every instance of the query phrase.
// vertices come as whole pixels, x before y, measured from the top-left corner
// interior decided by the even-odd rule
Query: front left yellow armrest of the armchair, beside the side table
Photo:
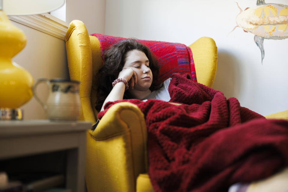
[[[135,191],[148,170],[144,115],[128,102],[113,105],[94,131],[87,133],[88,191]]]

